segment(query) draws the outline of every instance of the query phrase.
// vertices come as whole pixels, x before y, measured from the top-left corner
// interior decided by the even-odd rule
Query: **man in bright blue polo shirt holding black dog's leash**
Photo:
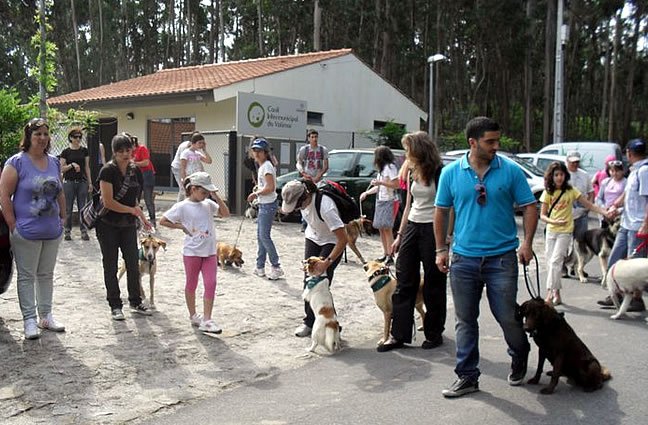
[[[458,379],[443,390],[459,397],[479,390],[479,300],[486,286],[490,309],[504,332],[512,358],[510,385],[524,381],[529,341],[515,318],[518,286],[517,257],[528,263],[538,224],[536,200],[518,166],[497,156],[499,124],[477,117],[466,126],[470,151],[443,168],[436,194],[434,236],[436,264],[451,271],[450,286],[456,314]],[[514,205],[524,211],[524,241],[519,244]],[[445,241],[448,213],[455,211],[455,236],[449,265]]]

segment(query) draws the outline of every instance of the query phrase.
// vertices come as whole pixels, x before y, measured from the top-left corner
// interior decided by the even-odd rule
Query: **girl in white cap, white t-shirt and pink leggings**
[[[214,214],[229,217],[230,212],[206,172],[189,175],[184,180],[184,188],[185,200],[165,212],[160,225],[180,229],[186,235],[182,248],[186,276],[185,301],[192,326],[198,326],[203,332],[219,334],[222,330],[212,319],[218,269]],[[196,313],[196,288],[200,273],[205,286],[202,316]]]

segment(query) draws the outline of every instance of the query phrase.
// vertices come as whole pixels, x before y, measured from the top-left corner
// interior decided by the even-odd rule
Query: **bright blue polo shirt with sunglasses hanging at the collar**
[[[486,188],[486,202],[477,202],[476,185]],[[536,202],[520,167],[496,155],[483,180],[470,167],[468,154],[443,167],[437,207],[455,209],[452,250],[466,257],[490,257],[517,249],[514,206]]]

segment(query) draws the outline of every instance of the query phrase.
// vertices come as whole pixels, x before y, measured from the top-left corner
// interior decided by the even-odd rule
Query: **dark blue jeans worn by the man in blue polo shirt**
[[[504,332],[511,357],[526,360],[529,341],[515,319],[518,264],[515,251],[493,257],[452,254],[450,287],[455,305],[457,366],[460,378],[479,378],[479,300],[486,286],[491,312]]]

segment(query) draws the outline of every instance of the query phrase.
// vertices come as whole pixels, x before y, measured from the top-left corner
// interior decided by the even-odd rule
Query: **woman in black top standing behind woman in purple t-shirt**
[[[65,220],[65,235],[66,241],[72,240],[72,208],[74,207],[74,200],[77,201],[77,209],[79,214],[81,208],[85,205],[88,198],[88,192],[92,191],[92,178],[90,177],[90,156],[88,149],[81,146],[81,139],[83,132],[81,128],[74,127],[68,131],[68,142],[70,147],[63,149],[60,155],[61,171],[63,171],[63,192],[65,193],[65,204],[67,206]],[[88,237],[88,229],[83,225],[83,221],[79,220],[81,227],[81,239],[84,241],[90,240]]]

